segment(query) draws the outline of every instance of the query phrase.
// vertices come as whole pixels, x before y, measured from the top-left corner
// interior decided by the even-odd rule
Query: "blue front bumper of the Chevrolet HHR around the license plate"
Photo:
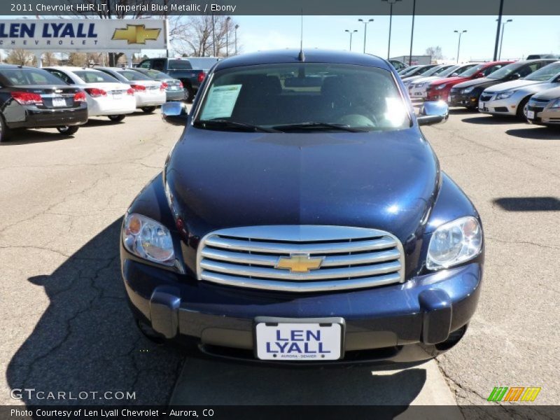
[[[194,340],[215,356],[260,361],[253,356],[259,316],[342,317],[345,358],[323,363],[355,363],[358,354],[376,363],[433,358],[437,343],[468,324],[482,279],[482,265],[472,262],[391,286],[299,294],[198,282],[126,257],[122,271],[137,318],[167,339]]]

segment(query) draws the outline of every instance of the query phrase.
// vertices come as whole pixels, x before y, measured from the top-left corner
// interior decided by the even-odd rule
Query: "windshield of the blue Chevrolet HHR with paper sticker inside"
[[[370,131],[409,127],[410,119],[389,71],[295,63],[216,72],[196,124],[218,130]]]

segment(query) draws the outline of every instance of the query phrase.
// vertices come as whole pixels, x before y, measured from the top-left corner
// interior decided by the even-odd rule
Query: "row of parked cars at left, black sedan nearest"
[[[20,128],[73,134],[92,116],[122,121],[137,108],[151,113],[167,101],[185,99],[181,81],[160,72],[0,64],[0,141]]]

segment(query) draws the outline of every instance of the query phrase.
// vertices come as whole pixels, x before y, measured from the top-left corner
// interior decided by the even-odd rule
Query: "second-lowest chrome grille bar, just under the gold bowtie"
[[[288,270],[276,268],[251,267],[248,265],[228,264],[228,262],[216,262],[203,259],[200,262],[202,269],[212,272],[232,274],[234,276],[265,277],[267,279],[283,280],[321,280],[321,279],[347,279],[349,277],[375,276],[398,271],[400,262],[383,262],[376,265],[365,265],[358,267],[343,267],[316,269],[308,273],[294,273]]]

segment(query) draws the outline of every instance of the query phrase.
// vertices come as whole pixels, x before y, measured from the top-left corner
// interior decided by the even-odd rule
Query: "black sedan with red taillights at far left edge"
[[[85,92],[48,71],[0,65],[0,141],[17,128],[55,127],[74,134],[87,122]]]

